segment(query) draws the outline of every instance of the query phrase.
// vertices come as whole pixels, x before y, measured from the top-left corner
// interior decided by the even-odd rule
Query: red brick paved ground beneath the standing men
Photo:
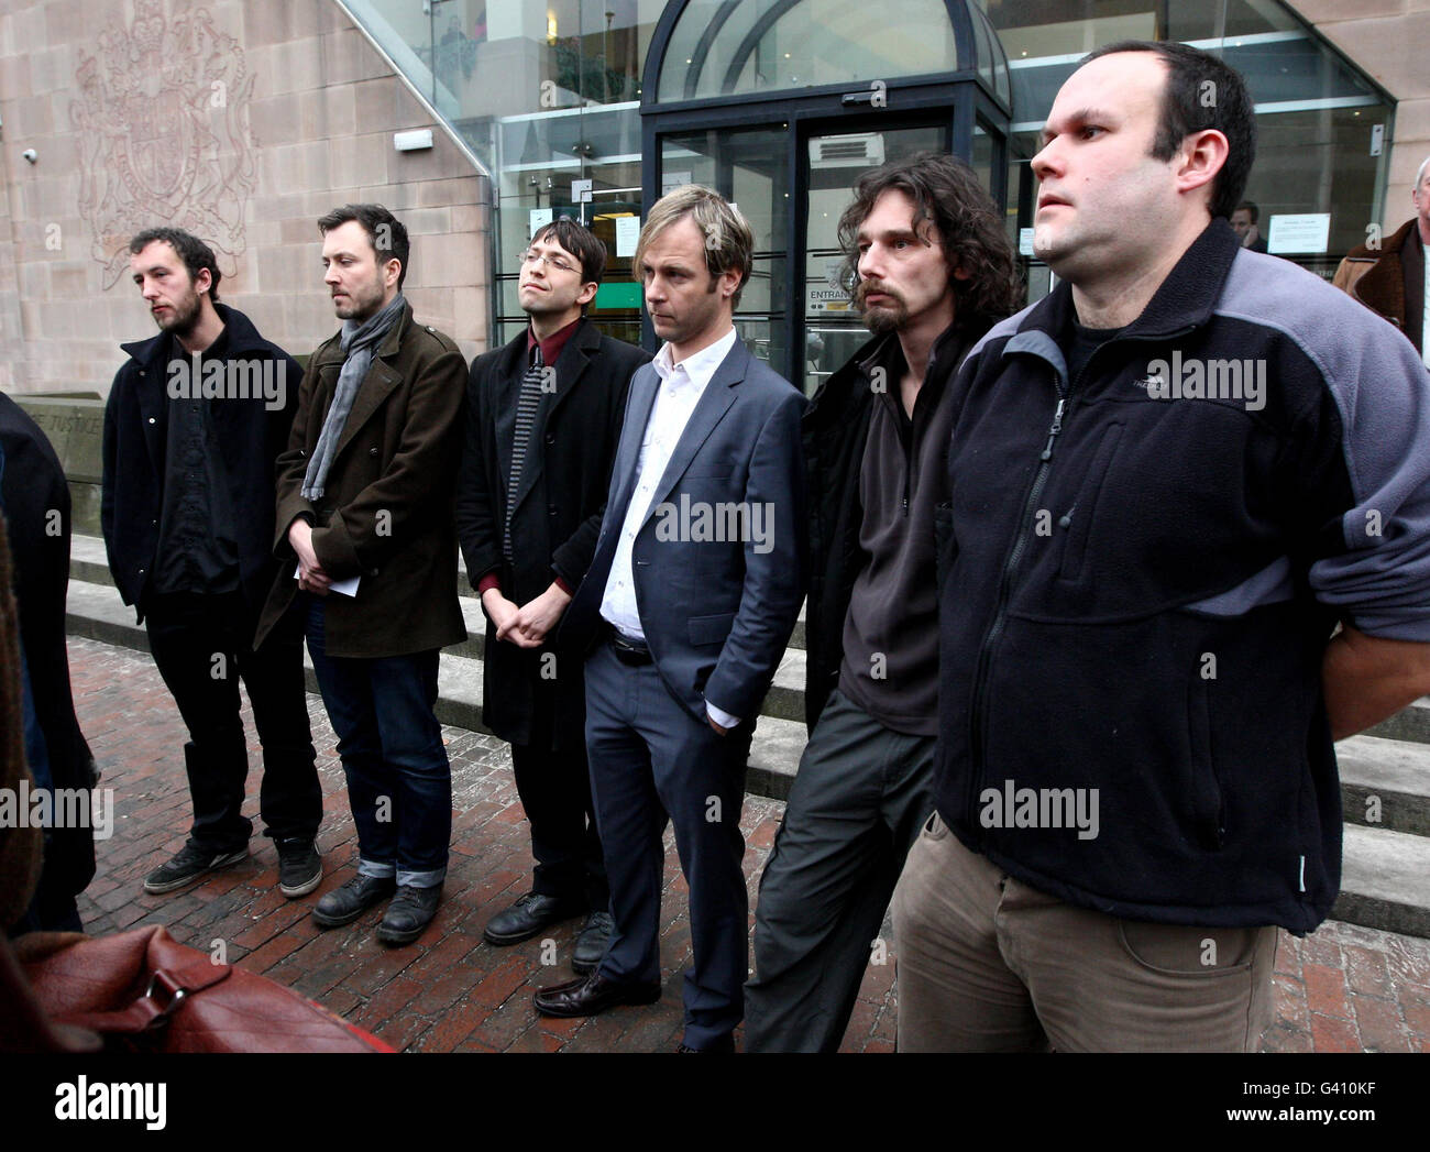
[[[532,992],[571,977],[566,963],[576,924],[553,929],[553,946],[529,940],[496,949],[482,927],[526,890],[531,851],[511,777],[506,746],[490,736],[445,728],[453,776],[452,864],[445,902],[422,939],[403,949],[378,943],[380,909],[343,929],[317,930],[307,910],[345,883],[358,841],[335,738],[322,701],[309,697],[323,781],[319,849],[326,874],[313,896],[277,892],[277,856],[257,834],[256,744],[250,750],[252,857],[207,883],[172,896],[147,896],[144,873],[184,840],[189,796],[184,730],[147,655],[90,640],[70,640],[70,671],[80,724],[114,789],[114,833],[97,844],[99,872],[80,899],[90,932],[162,923],[194,947],[222,940],[230,960],[296,987],[395,1048],[422,1052],[671,1050],[681,1039],[681,982],[691,950],[686,889],[666,834],[662,906],[665,992],[652,1007],[615,1009],[588,1020],[549,1020]],[[249,733],[252,723],[246,713]],[[748,797],[741,826],[749,849],[751,907],[784,806]],[[751,920],[754,923],[754,919]],[[552,955],[553,953],[553,955]],[[552,960],[555,963],[543,963]],[[859,990],[847,1052],[894,1049],[897,999],[889,963],[872,966]],[[1327,923],[1314,936],[1283,934],[1276,970],[1273,1052],[1430,1052],[1430,940]]]

